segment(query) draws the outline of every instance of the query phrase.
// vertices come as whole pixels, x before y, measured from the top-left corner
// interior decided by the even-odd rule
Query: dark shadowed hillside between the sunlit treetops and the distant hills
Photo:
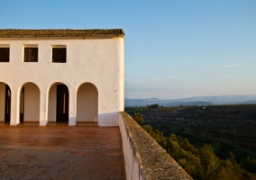
[[[215,155],[222,159],[232,152],[243,168],[256,173],[256,164],[246,165],[247,158],[254,159],[253,162],[256,159],[256,104],[163,108],[154,104],[126,107],[125,112],[142,113],[142,125],[151,125],[165,137],[175,134],[187,138],[196,148],[211,144]]]

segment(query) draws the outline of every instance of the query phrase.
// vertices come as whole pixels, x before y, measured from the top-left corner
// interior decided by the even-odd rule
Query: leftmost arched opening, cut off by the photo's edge
[[[9,85],[0,82],[0,121],[10,122],[11,95]]]

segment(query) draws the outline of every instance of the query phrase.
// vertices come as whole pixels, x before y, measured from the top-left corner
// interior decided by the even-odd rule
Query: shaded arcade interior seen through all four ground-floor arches
[[[13,92],[14,93],[14,92]],[[41,90],[38,85],[28,82],[18,91],[17,104],[11,104],[12,91],[9,85],[0,83],[0,122],[10,123],[12,105],[17,107],[17,124],[39,124],[41,117]],[[16,101],[16,100],[15,100]],[[46,119],[48,123],[69,122],[69,87],[63,83],[50,85],[46,102]],[[78,86],[75,101],[76,123],[98,121],[98,91],[96,85],[83,83]]]

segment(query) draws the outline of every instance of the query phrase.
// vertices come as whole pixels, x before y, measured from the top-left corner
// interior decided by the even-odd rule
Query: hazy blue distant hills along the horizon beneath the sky
[[[251,104],[256,103],[256,94],[198,96],[180,99],[124,99],[124,106],[146,106],[158,103],[163,106],[211,105],[211,104]]]

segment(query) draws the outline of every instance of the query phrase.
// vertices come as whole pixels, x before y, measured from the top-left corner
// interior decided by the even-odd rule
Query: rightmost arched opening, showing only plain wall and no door
[[[78,87],[77,121],[97,121],[98,92],[96,85],[84,83]]]

